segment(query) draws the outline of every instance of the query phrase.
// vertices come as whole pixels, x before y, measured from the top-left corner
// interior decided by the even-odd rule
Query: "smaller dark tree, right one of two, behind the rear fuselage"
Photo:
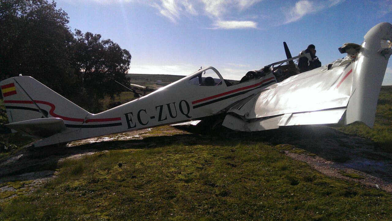
[[[131,54],[110,39],[101,40],[100,34],[75,30],[73,62],[75,72],[82,79],[87,93],[99,99],[113,98],[123,91],[115,81],[129,85],[127,77]]]

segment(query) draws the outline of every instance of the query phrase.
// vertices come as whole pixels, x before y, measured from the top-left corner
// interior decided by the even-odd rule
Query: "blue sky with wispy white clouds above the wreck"
[[[344,43],[392,22],[392,0],[56,0],[71,30],[131,52],[129,73],[189,75],[214,66],[225,79],[316,45],[323,65]],[[383,85],[392,85],[392,61]]]

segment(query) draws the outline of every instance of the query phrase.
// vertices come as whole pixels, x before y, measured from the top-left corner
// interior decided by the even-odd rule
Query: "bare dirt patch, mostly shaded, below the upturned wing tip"
[[[286,155],[323,174],[392,192],[392,154],[371,140],[317,126],[290,128],[271,140],[290,144]]]

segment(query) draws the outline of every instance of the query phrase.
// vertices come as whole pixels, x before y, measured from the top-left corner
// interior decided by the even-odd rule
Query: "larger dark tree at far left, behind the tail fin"
[[[79,88],[69,62],[67,13],[46,0],[0,1],[0,77],[30,75],[68,96]]]

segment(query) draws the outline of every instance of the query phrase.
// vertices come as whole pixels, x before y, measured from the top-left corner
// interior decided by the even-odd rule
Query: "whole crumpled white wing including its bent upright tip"
[[[241,108],[232,107],[223,126],[260,131],[361,121],[372,128],[391,53],[392,25],[379,23],[364,38],[354,59],[336,62],[332,68],[325,65],[269,86],[250,97]],[[387,40],[389,45],[385,44]]]

